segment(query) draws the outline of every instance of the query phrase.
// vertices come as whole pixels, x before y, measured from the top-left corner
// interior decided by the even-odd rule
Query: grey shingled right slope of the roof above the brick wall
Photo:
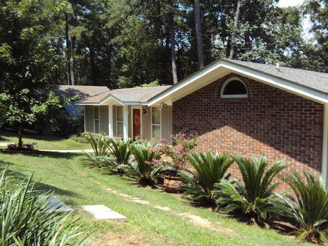
[[[282,78],[301,86],[309,87],[324,93],[328,93],[328,73],[314,72],[310,70],[302,70],[296,68],[279,67],[276,66],[252,63],[250,61],[226,60],[229,63],[241,65],[245,68],[260,71],[262,73],[270,74],[272,76]]]

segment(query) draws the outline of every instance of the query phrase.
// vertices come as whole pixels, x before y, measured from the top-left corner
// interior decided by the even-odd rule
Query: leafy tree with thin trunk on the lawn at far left
[[[59,24],[55,0],[1,1],[0,102],[8,122],[18,124],[22,148],[24,124],[31,124],[59,100],[47,90],[56,69],[56,50],[47,34]]]

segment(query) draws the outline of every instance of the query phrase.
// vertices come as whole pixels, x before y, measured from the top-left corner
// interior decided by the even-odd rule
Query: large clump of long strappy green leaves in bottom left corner
[[[71,213],[46,212],[46,199],[34,189],[32,176],[21,181],[4,170],[0,176],[0,244],[17,245],[89,245],[90,229],[69,222]],[[89,234],[89,235],[88,235]]]

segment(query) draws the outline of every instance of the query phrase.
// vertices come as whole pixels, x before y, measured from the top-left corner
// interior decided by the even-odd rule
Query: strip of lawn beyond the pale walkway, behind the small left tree
[[[18,144],[17,131],[0,131],[0,142],[14,142]],[[91,149],[89,143],[81,143],[70,138],[62,138],[57,136],[35,135],[29,132],[23,134],[24,144],[32,144],[36,142],[34,149],[39,150],[85,150]],[[6,147],[3,147],[6,148]]]

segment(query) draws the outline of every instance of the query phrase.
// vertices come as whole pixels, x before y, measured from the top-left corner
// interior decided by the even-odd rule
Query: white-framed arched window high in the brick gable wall
[[[243,81],[238,77],[232,77],[224,82],[221,98],[247,98],[247,88]]]

